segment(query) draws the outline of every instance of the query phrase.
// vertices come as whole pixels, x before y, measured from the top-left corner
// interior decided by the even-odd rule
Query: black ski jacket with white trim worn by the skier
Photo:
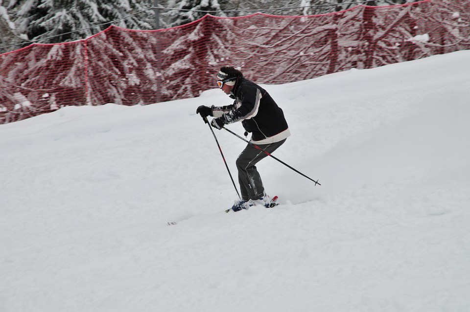
[[[282,109],[254,82],[238,78],[230,97],[235,98],[234,104],[212,108],[214,117],[225,124],[241,121],[252,133],[252,141],[261,141],[259,144],[279,142],[290,135]]]

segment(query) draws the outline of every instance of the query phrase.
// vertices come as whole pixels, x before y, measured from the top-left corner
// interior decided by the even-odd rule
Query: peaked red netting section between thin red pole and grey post
[[[110,27],[87,40],[90,105],[160,102],[159,36]]]

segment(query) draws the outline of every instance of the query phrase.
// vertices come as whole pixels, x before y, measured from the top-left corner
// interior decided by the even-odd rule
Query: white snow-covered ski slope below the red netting
[[[263,160],[272,209],[223,212],[195,114],[219,89],[0,125],[0,311],[468,312],[469,58],[265,86],[292,132],[274,155],[322,183]],[[235,176],[245,143],[215,134]]]

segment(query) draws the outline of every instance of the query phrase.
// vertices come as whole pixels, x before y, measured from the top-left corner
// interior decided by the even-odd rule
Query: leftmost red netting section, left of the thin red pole
[[[8,118],[20,120],[62,105],[85,103],[85,55],[80,42],[30,45],[3,55],[0,103]]]

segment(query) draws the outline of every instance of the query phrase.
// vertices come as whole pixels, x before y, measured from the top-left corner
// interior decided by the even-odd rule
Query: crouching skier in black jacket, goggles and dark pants
[[[265,89],[244,78],[242,72],[234,67],[220,68],[217,85],[235,101],[228,106],[201,105],[197,108],[196,113],[201,117],[215,117],[211,121],[212,127],[220,130],[224,125],[241,121],[245,135],[251,133],[251,142],[269,154],[285,142],[290,132],[284,114]],[[256,204],[270,206],[271,200],[264,191],[255,166],[266,156],[248,144],[236,159],[241,199],[235,201],[233,211],[248,209]]]

